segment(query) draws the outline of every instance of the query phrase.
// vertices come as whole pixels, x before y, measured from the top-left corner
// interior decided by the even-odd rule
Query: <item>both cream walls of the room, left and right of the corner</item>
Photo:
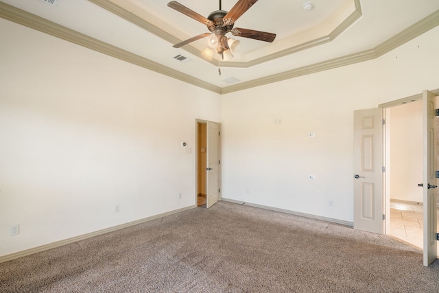
[[[352,221],[353,111],[439,88],[439,28],[222,97],[3,19],[0,39],[0,256],[195,205],[195,119],[222,123],[223,198]]]

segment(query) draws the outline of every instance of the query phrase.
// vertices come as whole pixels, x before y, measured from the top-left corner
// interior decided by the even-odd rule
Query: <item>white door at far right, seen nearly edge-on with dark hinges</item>
[[[423,188],[424,188],[424,266],[429,266],[436,260],[437,240],[436,240],[436,155],[435,155],[435,135],[434,125],[436,123],[435,110],[436,94],[423,91]]]

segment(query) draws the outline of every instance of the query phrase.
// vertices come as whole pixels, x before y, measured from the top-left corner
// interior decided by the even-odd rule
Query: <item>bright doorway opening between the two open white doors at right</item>
[[[423,101],[405,99],[385,110],[385,233],[424,249]],[[439,119],[434,131],[438,138]],[[434,143],[438,153],[438,141]],[[436,159],[437,160],[437,159]],[[436,166],[439,166],[436,162]],[[421,184],[422,185],[422,184]],[[439,215],[439,203],[436,203]],[[438,219],[438,217],[435,217]],[[439,226],[438,226],[439,227]],[[437,251],[439,257],[439,248]]]

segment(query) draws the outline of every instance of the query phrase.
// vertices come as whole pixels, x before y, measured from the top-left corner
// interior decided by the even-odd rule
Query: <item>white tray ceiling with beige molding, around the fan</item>
[[[215,52],[203,55],[206,38],[172,47],[209,30],[168,2],[1,0],[0,16],[222,94],[377,58],[439,25],[438,0],[259,0],[235,27],[276,39],[229,33],[241,46],[224,62]],[[205,17],[219,9],[217,0],[178,2]],[[223,0],[222,10],[236,2]],[[307,2],[313,3],[308,11]]]

